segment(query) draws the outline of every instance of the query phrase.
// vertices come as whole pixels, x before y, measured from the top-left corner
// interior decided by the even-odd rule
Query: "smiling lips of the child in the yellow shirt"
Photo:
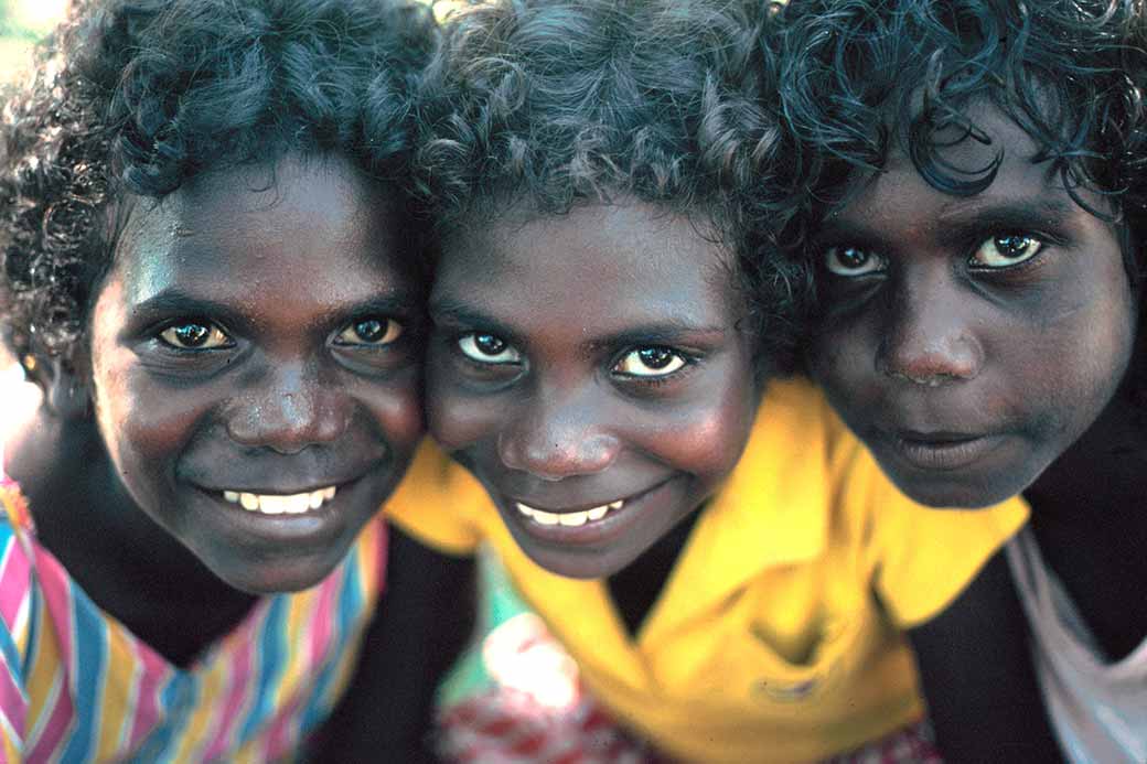
[[[666,477],[650,488],[632,492],[624,497],[614,497],[599,502],[582,502],[575,506],[554,507],[545,501],[531,501],[528,498],[502,496],[499,501],[502,517],[514,528],[521,529],[531,538],[552,545],[561,546],[602,546],[608,545],[625,530],[639,521],[646,513],[656,512],[662,504],[661,499],[668,494],[665,488],[673,482],[673,477]],[[555,515],[569,515],[577,512],[586,512],[594,507],[623,501],[621,508],[610,509],[601,520],[590,520],[584,525],[543,525],[537,521],[525,517],[516,507],[518,502],[533,509],[541,509]]]

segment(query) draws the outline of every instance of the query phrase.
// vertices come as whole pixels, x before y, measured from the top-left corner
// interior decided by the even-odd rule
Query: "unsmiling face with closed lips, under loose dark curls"
[[[941,158],[983,167],[1002,149],[986,190],[945,195],[894,155],[817,248],[814,374],[897,485],[933,506],[1031,484],[1110,400],[1138,311],[1116,228],[1032,161],[1014,123],[969,116],[991,146]]]

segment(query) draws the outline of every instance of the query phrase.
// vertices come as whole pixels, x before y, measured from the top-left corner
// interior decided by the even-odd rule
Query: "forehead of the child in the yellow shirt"
[[[603,330],[725,323],[739,304],[731,258],[697,223],[641,202],[471,220],[443,241],[432,301]]]

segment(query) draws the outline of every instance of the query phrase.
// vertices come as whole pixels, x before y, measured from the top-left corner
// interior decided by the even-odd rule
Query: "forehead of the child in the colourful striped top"
[[[112,273],[128,299],[177,286],[212,299],[337,295],[413,273],[395,196],[337,158],[196,178],[136,200]]]

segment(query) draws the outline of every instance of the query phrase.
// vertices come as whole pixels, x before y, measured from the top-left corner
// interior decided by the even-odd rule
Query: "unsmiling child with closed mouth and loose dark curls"
[[[786,112],[826,202],[818,381],[914,499],[1032,507],[912,633],[941,748],[1142,762],[1142,6],[786,16]]]

